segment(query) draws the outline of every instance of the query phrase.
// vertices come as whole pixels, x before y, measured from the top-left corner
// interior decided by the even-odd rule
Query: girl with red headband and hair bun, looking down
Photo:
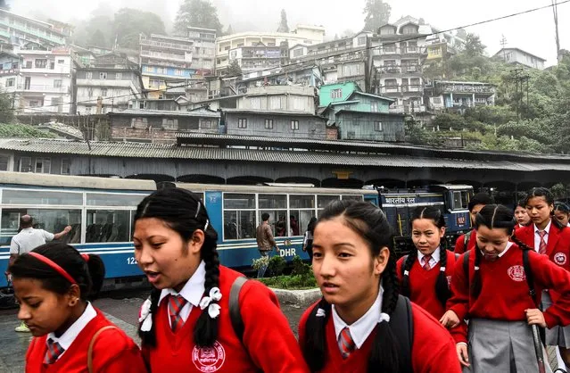
[[[103,284],[101,258],[51,243],[19,256],[10,271],[18,318],[34,336],[26,373],[146,371],[133,340],[87,302]]]

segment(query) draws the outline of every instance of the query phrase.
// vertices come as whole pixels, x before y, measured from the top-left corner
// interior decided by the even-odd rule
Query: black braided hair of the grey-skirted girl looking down
[[[528,246],[523,245],[519,240],[513,236],[515,230],[516,220],[513,211],[503,206],[502,204],[487,204],[475,218],[475,229],[484,226],[489,229],[503,228],[506,229],[508,236],[518,245],[521,249],[530,249]],[[483,259],[483,253],[477,246],[475,249],[475,276],[471,283],[470,293],[473,298],[477,298],[481,294],[482,280],[479,267]]]

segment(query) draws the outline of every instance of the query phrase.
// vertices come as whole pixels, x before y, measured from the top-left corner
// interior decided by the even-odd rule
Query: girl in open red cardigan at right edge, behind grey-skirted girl
[[[570,228],[554,217],[554,196],[544,187],[535,187],[528,192],[525,204],[533,223],[517,229],[516,238],[537,253],[548,255],[554,264],[570,270]],[[548,310],[559,296],[556,289],[543,292],[542,309]],[[562,360],[570,367],[570,327],[548,329],[546,344],[558,346]]]

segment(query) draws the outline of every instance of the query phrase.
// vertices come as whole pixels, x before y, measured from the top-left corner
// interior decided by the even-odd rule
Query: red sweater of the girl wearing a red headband
[[[47,336],[32,339],[26,353],[26,373],[87,373],[87,350],[91,339],[102,327],[114,326],[101,311],[95,311],[95,319],[89,321],[54,364],[44,365]],[[138,346],[119,328],[105,330],[97,336],[93,347],[93,369],[96,373],[146,372]]]

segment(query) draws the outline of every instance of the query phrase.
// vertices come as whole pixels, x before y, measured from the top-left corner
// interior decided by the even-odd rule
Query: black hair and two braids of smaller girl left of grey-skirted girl
[[[417,207],[417,209],[412,214],[410,219],[411,223],[418,219],[428,219],[434,222],[435,227],[441,229],[445,227],[445,218],[443,217],[442,211],[436,209],[435,207]],[[408,258],[404,261],[403,273],[401,278],[401,294],[409,297],[409,271],[411,270],[414,263],[417,261],[417,249],[410,251]],[[437,299],[445,307],[445,303],[450,299],[450,286],[445,276],[445,269],[447,267],[447,242],[445,239],[440,241],[440,273],[437,276],[435,282],[435,294]]]

